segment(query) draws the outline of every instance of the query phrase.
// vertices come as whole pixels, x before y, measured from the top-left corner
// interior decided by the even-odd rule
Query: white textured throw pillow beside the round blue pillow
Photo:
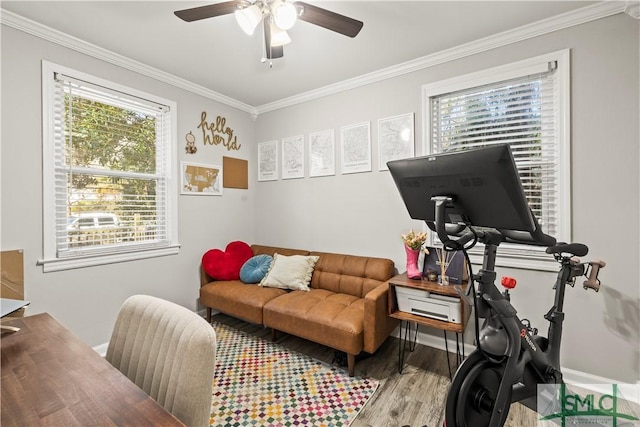
[[[260,286],[280,289],[308,291],[313,268],[318,256],[273,255],[269,272],[260,281]]]

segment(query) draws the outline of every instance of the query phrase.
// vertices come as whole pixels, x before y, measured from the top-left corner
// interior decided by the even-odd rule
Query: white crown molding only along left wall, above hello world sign
[[[218,101],[249,114],[255,114],[255,108],[249,104],[245,104],[204,86],[197,85],[173,74],[143,64],[142,62],[135,61],[126,56],[114,53],[100,46],[96,46],[77,37],[70,36],[69,34],[47,27],[21,15],[9,12],[8,10],[0,9],[0,23],[76,52],[83,53],[93,58],[142,74],[143,76],[151,77],[155,80],[204,96],[205,98]]]

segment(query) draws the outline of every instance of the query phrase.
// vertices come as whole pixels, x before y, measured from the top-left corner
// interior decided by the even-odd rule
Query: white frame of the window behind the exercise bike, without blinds
[[[549,62],[557,65],[557,127],[558,127],[558,232],[557,241],[571,242],[571,94],[570,94],[570,50],[564,49],[533,58],[512,62],[481,71],[464,74],[422,86],[423,108],[423,153],[431,153],[432,108],[431,98],[471,89],[478,86],[499,84],[501,82],[540,72]],[[426,230],[426,225],[425,225]],[[429,243],[437,245],[435,233],[429,233]],[[481,246],[481,245],[479,245]],[[532,270],[555,271],[555,261],[544,252],[545,248],[515,244],[502,244],[496,265]],[[469,251],[473,264],[482,264],[482,248]]]

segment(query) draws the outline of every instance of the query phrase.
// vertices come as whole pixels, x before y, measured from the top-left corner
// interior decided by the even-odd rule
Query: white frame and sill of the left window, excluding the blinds
[[[55,193],[55,115],[54,94],[55,75],[64,74],[72,78],[101,86],[107,90],[121,92],[130,96],[146,99],[169,107],[169,124],[165,147],[167,179],[166,215],[167,242],[153,247],[130,246],[127,249],[114,248],[113,251],[96,252],[91,254],[76,254],[60,257],[56,247],[56,193]],[[43,271],[61,271],[96,265],[112,264],[124,261],[153,258],[159,256],[176,255],[179,252],[178,243],[178,199],[177,199],[177,104],[174,101],[142,92],[109,80],[105,80],[84,72],[67,68],[48,61],[42,61],[42,194],[43,194],[43,258],[38,261]]]

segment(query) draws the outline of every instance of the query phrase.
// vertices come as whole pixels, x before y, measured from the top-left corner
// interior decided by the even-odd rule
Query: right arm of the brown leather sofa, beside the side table
[[[389,317],[389,282],[371,290],[364,297],[364,351],[374,353],[398,326],[399,321]]]

